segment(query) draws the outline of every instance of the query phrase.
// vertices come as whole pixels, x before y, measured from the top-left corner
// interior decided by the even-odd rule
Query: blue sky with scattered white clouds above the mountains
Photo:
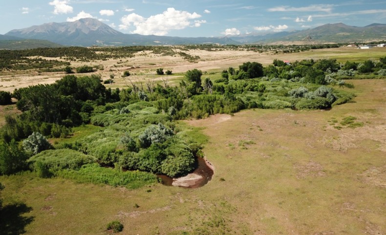
[[[385,0],[0,0],[0,34],[95,18],[127,34],[221,37],[386,23]]]

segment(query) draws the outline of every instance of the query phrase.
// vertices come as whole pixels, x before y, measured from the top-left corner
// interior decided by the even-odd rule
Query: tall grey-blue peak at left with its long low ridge
[[[14,29],[6,33],[24,39],[45,39],[63,45],[175,45],[220,43],[237,44],[228,38],[180,38],[155,35],[123,34],[107,24],[92,18],[74,22],[45,23],[25,29]]]

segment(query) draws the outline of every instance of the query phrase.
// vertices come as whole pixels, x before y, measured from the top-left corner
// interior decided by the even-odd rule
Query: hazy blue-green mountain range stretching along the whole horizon
[[[243,35],[227,35],[212,38],[182,38],[155,35],[124,34],[107,24],[92,18],[73,22],[45,23],[24,29],[14,29],[0,35],[1,41],[39,39],[67,46],[130,46],[130,45],[178,45],[178,44],[253,44],[313,41],[314,43],[345,43],[369,40],[385,40],[386,24],[370,24],[365,27],[349,26],[343,23],[325,24],[313,29],[283,32],[254,32]],[[34,41],[38,43],[38,41]],[[43,42],[42,42],[43,43]],[[46,41],[44,42],[46,43]],[[43,44],[44,44],[43,43]],[[56,44],[54,44],[56,43]],[[49,44],[49,43],[48,43]]]

